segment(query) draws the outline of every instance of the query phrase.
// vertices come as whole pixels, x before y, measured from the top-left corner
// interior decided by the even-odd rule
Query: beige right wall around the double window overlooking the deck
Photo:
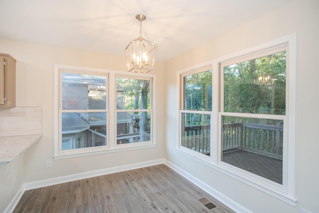
[[[218,30],[218,29],[216,29]],[[298,34],[297,207],[191,160],[174,150],[166,159],[254,213],[319,211],[319,1],[296,0],[165,63],[166,149],[177,146],[176,72],[291,33]]]

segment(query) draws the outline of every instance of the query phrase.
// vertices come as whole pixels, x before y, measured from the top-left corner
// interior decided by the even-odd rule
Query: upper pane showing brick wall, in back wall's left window
[[[106,109],[106,76],[62,73],[62,109]]]

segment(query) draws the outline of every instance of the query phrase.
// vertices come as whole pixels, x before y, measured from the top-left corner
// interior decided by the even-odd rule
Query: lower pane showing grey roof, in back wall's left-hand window
[[[106,145],[106,113],[62,113],[62,150]]]

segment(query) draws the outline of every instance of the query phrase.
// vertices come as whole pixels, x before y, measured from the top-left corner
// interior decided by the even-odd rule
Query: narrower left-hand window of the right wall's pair
[[[211,67],[183,73],[180,79],[180,148],[210,156]]]

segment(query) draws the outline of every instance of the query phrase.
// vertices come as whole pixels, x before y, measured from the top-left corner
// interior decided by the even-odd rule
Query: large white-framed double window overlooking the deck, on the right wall
[[[178,73],[178,152],[295,206],[296,34],[210,63]]]

